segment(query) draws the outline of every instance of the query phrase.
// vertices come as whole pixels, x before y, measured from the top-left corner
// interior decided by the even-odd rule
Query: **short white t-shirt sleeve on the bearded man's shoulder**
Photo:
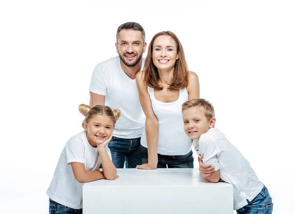
[[[104,69],[102,68],[100,64],[97,64],[96,67],[94,68],[94,71],[91,77],[89,91],[96,94],[106,95],[107,76]]]

